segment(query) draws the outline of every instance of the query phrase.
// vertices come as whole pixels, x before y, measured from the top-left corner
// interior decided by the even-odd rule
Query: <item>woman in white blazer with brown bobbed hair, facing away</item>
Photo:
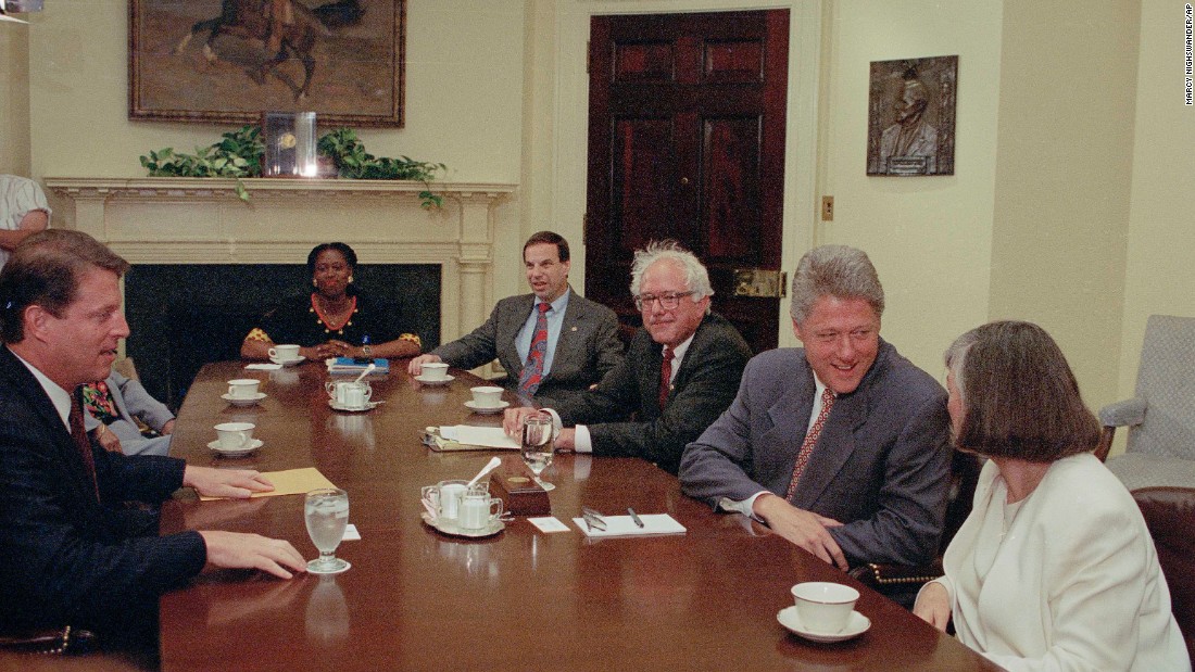
[[[914,614],[1006,670],[1189,671],[1145,520],[1090,452],[1099,423],[1041,327],[992,322],[946,351],[955,446],[989,458],[945,577]]]

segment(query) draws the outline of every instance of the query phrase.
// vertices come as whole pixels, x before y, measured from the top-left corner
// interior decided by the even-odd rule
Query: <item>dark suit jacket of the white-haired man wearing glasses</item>
[[[642,457],[675,474],[685,445],[710,426],[739,388],[750,347],[717,314],[706,315],[660,408],[663,346],[641,328],[626,360],[593,392],[556,407],[565,425],[588,425],[594,455]],[[598,424],[592,424],[598,423]]]

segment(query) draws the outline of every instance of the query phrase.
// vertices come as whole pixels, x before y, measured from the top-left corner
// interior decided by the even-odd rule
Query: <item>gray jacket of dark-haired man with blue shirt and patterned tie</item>
[[[507,370],[505,387],[517,389],[523,362],[515,338],[534,304],[533,294],[503,298],[484,325],[431,352],[458,369],[472,369],[497,358]],[[618,316],[609,308],[571,291],[554,347],[552,370],[535,392],[535,401],[543,406],[554,406],[588,389],[623,362]]]

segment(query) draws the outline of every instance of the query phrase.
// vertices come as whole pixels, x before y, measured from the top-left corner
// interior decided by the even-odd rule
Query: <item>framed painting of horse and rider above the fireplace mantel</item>
[[[403,125],[406,0],[129,0],[129,118]]]

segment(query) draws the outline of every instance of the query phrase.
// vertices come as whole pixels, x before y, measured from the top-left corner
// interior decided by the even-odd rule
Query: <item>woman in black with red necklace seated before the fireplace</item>
[[[343,242],[317,245],[307,255],[315,291],[266,313],[240,344],[243,359],[269,359],[275,344],[299,346],[307,359],[329,357],[402,358],[423,349],[402,327],[400,315],[381,310],[357,291],[357,254]]]

